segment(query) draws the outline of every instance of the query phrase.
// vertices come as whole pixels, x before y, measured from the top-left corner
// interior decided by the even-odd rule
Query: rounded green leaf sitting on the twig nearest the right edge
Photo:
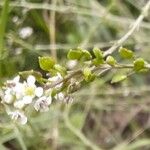
[[[145,67],[145,60],[143,58],[137,58],[134,62],[134,70],[141,71]]]

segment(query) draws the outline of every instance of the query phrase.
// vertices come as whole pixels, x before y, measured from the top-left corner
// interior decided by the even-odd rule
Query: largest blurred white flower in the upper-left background
[[[22,38],[22,39],[26,39],[28,37],[30,37],[33,33],[33,29],[31,27],[24,27],[22,29],[20,29],[19,31],[19,36]]]

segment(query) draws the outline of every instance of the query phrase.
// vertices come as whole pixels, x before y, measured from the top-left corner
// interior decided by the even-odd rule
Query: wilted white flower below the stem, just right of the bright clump
[[[51,102],[52,102],[51,96],[49,97],[42,96],[35,102],[34,108],[36,111],[41,111],[41,112],[48,111],[49,105],[51,104]]]

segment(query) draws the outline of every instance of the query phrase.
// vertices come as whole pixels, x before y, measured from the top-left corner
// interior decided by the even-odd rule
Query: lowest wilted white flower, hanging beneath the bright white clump
[[[8,115],[11,117],[12,120],[17,121],[21,124],[27,123],[27,117],[24,115],[24,113],[18,110],[14,112],[9,112]]]

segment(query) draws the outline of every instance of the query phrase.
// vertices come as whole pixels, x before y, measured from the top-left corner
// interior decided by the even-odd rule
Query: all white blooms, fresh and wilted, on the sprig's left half
[[[58,73],[48,79],[47,84],[62,80],[62,76]],[[55,89],[60,89],[62,83],[58,84]],[[9,106],[8,115],[14,121],[21,124],[27,123],[25,108],[32,105],[36,111],[45,112],[49,110],[52,102],[52,90],[44,90],[41,86],[36,86],[36,78],[29,75],[26,81],[21,82],[20,76],[16,76],[13,80],[6,82],[6,86],[1,94],[2,103]],[[63,92],[55,94],[54,99],[66,101],[66,96]]]

